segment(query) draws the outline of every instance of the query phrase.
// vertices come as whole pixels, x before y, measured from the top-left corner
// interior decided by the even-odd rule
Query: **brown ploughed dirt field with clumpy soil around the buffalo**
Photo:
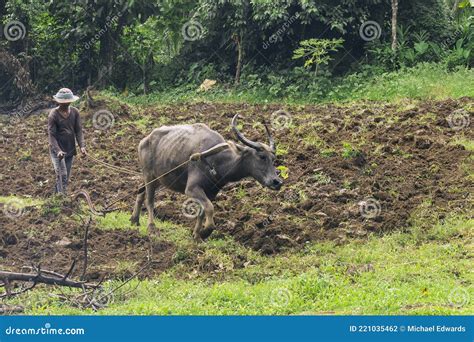
[[[103,108],[114,114],[114,125],[104,131],[95,129],[94,110],[84,112],[84,130],[93,156],[138,171],[138,142],[154,127],[204,122],[233,139],[230,120],[241,113],[246,118],[243,131],[262,140],[262,126],[249,123],[286,110],[291,124],[274,130],[279,146],[277,164],[287,168],[283,170],[288,176],[284,188],[273,192],[253,180],[228,186],[216,200],[218,229],[213,233],[228,234],[262,254],[274,254],[301,248],[308,241],[344,243],[370,232],[406,229],[410,220],[423,215],[420,206],[426,201],[441,218],[453,210],[472,212],[474,185],[467,177],[469,170],[472,173],[472,159],[455,141],[460,137],[472,140],[474,132],[468,127],[460,133],[447,121],[454,111],[469,105],[472,109],[469,98],[351,106],[201,103],[148,108],[145,119],[140,119],[142,113],[137,115],[131,107],[110,103]],[[2,122],[0,138],[0,195],[50,197],[54,181],[46,115]],[[71,191],[85,189],[93,202],[101,205],[139,183],[136,176],[77,158]],[[184,196],[160,192],[157,199],[160,219],[193,225],[182,214]],[[122,210],[131,211],[133,201],[130,197],[121,203]],[[64,272],[74,258],[81,258],[83,224],[74,214],[76,205],[67,203],[58,213],[48,210],[51,204],[46,203],[41,209],[25,209],[15,219],[0,215],[0,262],[8,269],[41,262],[45,268]],[[368,207],[362,211],[368,210],[368,214],[362,215],[364,204]],[[102,230],[95,221],[90,229],[90,279],[113,274],[120,260],[144,264],[152,258],[150,275],[174,263],[176,248],[171,242],[158,239],[150,243],[137,230]],[[64,238],[70,241],[67,246],[62,243]]]

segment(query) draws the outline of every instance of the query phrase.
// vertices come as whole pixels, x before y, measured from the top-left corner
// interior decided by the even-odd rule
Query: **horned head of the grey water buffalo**
[[[246,138],[237,128],[238,118],[239,114],[233,117],[232,130],[237,136],[237,139],[249,147],[243,151],[243,157],[245,159],[244,165],[248,174],[263,186],[272,190],[279,190],[283,184],[283,180],[278,176],[274,165],[276,146],[267,124],[264,123],[268,137],[268,145]]]

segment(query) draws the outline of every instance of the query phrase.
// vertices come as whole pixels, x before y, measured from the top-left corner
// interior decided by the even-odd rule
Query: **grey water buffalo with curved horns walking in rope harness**
[[[254,142],[238,130],[238,117],[236,114],[232,119],[232,130],[244,145],[226,142],[222,135],[201,123],[163,126],[144,138],[138,146],[138,156],[146,186],[137,195],[130,221],[139,224],[141,207],[146,198],[148,232],[158,233],[153,223],[155,190],[166,187],[184,193],[198,203],[200,210],[193,237],[199,241],[207,238],[214,229],[214,206],[211,201],[226,184],[252,177],[267,188],[279,190],[283,181],[274,166],[276,148],[268,126],[265,124],[269,144]],[[199,156],[196,153],[213,150],[218,145],[225,146],[225,149],[196,158]],[[196,160],[153,181],[191,156]]]

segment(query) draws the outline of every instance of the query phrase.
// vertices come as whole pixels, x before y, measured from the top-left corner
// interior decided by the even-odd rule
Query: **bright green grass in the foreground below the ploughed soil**
[[[128,229],[125,218],[119,213],[99,224]],[[199,245],[194,271],[178,258],[158,278],[127,284],[97,314],[472,314],[473,227],[473,219],[452,217],[429,229],[413,227],[344,245],[313,243],[272,257],[230,237],[214,238]],[[184,227],[160,228],[165,240],[190,239]],[[181,244],[177,253],[195,253],[188,247]],[[244,267],[236,267],[235,256],[246,260]],[[26,303],[27,314],[94,314],[67,306],[50,292],[40,288],[9,302]]]

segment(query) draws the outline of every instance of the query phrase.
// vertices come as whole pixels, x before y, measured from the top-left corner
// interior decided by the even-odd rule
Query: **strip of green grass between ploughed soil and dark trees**
[[[308,76],[309,77],[309,76]],[[288,85],[293,81],[288,80]],[[311,104],[328,102],[385,101],[401,102],[405,99],[447,99],[463,96],[474,97],[474,88],[466,84],[474,83],[474,71],[458,68],[446,71],[445,67],[435,63],[420,63],[412,68],[398,71],[376,73],[376,76],[351,74],[343,78],[329,80],[330,86],[318,89],[315,93],[304,91],[291,92],[282,85],[275,94],[267,88],[274,85],[259,85],[257,88],[245,84],[227,88],[219,85],[208,92],[197,92],[198,85],[185,85],[154,92],[149,95],[123,95],[113,92],[104,93],[107,97],[131,105],[160,106],[183,102],[219,102],[219,103],[282,103]]]

